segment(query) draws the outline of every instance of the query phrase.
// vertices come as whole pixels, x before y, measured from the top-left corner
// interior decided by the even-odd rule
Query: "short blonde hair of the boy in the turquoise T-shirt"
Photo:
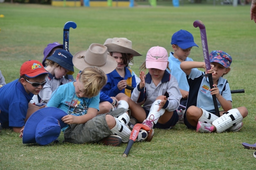
[[[107,84],[107,75],[96,66],[83,69],[78,79],[83,84],[84,95],[87,98],[97,96],[103,86]]]

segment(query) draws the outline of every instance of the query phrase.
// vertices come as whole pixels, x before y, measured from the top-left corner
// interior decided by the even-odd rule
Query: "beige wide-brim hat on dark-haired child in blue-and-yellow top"
[[[132,49],[132,41],[127,38],[113,38],[107,39],[104,45],[107,47],[108,52],[126,53],[132,54],[133,56],[141,56],[140,53]]]

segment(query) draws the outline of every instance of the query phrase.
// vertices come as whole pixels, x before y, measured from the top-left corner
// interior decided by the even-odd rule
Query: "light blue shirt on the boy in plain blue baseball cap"
[[[185,61],[193,61],[192,58],[187,57]],[[170,52],[170,56],[168,57],[169,68],[171,70],[171,75],[173,75],[179,85],[179,88],[185,91],[189,91],[189,85],[186,78],[186,74],[180,68],[180,61],[179,59],[173,56],[173,52]],[[166,69],[170,72],[168,69]]]

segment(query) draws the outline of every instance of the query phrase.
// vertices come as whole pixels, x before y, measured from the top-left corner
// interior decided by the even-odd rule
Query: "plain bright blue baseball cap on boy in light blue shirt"
[[[174,33],[171,44],[176,44],[182,49],[191,48],[193,46],[198,47],[194,42],[193,35],[186,30],[180,30]]]

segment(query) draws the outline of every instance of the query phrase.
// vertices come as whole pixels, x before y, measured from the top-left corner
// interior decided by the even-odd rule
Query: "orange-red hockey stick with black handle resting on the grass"
[[[132,129],[132,132],[131,132],[128,144],[126,146],[126,149],[124,150],[123,157],[128,156],[128,153],[130,152],[133,143],[135,142],[136,138],[138,137],[140,129],[144,129],[146,131],[150,130],[150,128],[148,126],[144,125],[144,124],[141,124],[141,123],[135,124],[133,129]]]

